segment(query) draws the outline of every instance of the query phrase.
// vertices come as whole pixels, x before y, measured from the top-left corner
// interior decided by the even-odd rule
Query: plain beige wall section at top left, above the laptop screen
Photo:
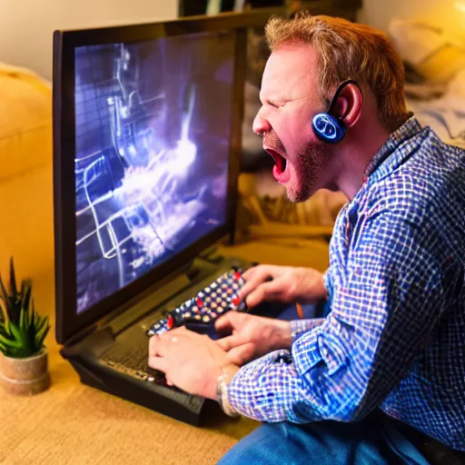
[[[172,19],[178,0],[0,0],[0,62],[52,78],[55,29]]]

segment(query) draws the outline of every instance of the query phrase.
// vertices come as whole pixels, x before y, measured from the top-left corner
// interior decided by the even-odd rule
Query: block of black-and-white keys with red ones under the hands
[[[179,307],[166,312],[164,318],[154,322],[146,331],[147,336],[163,334],[176,326],[191,325],[193,328],[213,326],[213,322],[225,312],[246,310],[237,292],[244,280],[241,269],[223,273],[219,278],[198,292],[193,298],[183,302]]]

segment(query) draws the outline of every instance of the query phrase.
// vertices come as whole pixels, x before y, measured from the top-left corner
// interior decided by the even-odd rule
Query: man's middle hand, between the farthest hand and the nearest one
[[[291,323],[240,312],[227,312],[215,322],[217,331],[232,332],[216,343],[227,351],[227,359],[236,365],[261,357],[277,349],[289,349]]]

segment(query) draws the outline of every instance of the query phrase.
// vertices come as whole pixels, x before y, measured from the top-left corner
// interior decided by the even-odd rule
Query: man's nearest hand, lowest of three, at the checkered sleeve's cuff
[[[228,364],[226,352],[208,336],[185,328],[149,341],[148,365],[163,371],[169,384],[216,401],[216,382]]]

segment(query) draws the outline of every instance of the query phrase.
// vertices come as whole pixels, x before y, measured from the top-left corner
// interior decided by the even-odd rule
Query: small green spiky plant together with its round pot
[[[16,286],[13,258],[8,291],[0,276],[0,384],[6,391],[32,395],[50,386],[45,336],[47,316],[35,312],[31,282]]]

